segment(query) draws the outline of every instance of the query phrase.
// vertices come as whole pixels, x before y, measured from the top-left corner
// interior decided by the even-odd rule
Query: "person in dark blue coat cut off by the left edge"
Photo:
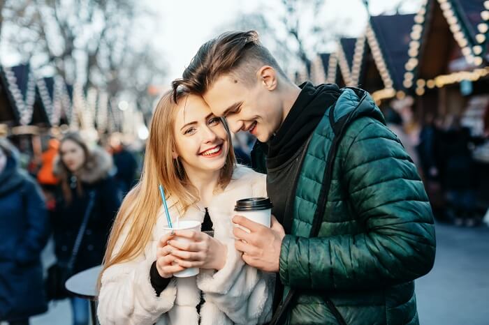
[[[29,324],[48,310],[41,250],[49,223],[41,190],[6,139],[0,139],[0,211],[0,322]]]

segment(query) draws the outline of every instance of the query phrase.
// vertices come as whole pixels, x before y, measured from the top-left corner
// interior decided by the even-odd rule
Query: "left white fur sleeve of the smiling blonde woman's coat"
[[[124,242],[125,236],[122,237],[116,252]],[[177,293],[175,280],[157,296],[149,280],[152,262],[154,259],[142,254],[103,272],[97,309],[101,325],[152,325],[173,308]]]

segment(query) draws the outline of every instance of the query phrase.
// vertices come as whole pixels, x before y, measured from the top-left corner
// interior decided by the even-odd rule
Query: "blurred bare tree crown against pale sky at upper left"
[[[13,28],[6,40],[35,70],[54,69],[110,98],[124,92],[144,98],[144,84],[166,73],[152,40],[137,34],[148,35],[154,16],[136,0],[10,2],[6,20]]]

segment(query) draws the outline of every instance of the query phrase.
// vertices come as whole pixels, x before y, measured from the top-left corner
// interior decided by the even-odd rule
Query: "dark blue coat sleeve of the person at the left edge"
[[[26,227],[15,252],[16,261],[20,264],[38,259],[49,236],[48,213],[41,190],[31,179],[26,179],[24,183],[22,204]]]

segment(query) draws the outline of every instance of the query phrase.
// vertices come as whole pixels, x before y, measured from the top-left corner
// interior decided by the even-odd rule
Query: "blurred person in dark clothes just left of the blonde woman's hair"
[[[120,133],[112,133],[108,145],[108,151],[112,153],[112,160],[114,160],[114,165],[117,169],[115,180],[122,194],[126,195],[136,183],[138,162],[136,162],[133,153],[126,149],[122,143],[122,135]]]

